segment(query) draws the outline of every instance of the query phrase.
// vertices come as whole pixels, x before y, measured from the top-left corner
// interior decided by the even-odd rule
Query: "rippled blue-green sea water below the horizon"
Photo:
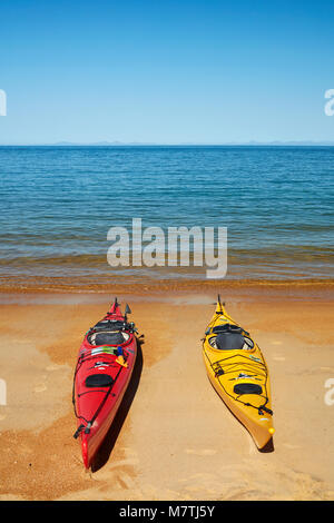
[[[0,147],[0,277],[205,278],[118,268],[107,231],[227,227],[227,278],[332,278],[332,147]]]

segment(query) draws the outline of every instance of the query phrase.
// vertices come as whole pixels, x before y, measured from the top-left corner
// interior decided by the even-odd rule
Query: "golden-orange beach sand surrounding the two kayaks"
[[[127,296],[145,344],[90,473],[72,438],[72,372],[109,296],[2,295],[0,378],[8,397],[0,406],[0,499],[334,499],[334,405],[324,402],[325,381],[334,378],[334,299],[310,294],[262,287],[224,295],[268,364],[271,453],[256,450],[206,377],[200,338],[215,293]]]

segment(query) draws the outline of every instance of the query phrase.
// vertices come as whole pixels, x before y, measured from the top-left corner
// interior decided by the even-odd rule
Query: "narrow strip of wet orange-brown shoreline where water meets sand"
[[[175,303],[212,303],[222,300],[275,303],[334,302],[334,279],[330,280],[155,280],[134,284],[119,282],[77,285],[42,282],[40,285],[4,285],[0,279],[0,304],[33,303],[102,303],[115,296],[120,299]]]

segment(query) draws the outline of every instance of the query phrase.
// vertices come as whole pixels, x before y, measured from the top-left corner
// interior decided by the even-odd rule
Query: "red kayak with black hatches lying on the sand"
[[[73,378],[82,460],[89,468],[115,418],[137,356],[137,329],[121,314],[117,298],[107,315],[91,327],[81,344]]]

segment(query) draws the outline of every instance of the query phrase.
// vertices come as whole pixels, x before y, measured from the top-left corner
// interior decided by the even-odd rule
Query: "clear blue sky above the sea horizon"
[[[2,0],[0,144],[332,140],[334,3]]]

